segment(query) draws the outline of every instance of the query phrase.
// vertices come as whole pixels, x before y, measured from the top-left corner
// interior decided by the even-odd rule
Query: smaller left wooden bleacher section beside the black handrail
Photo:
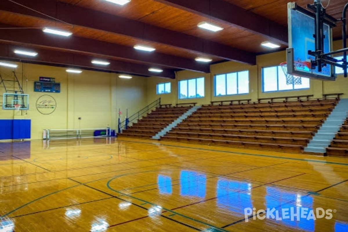
[[[132,126],[128,127],[127,130],[123,130],[117,136],[151,138],[191,107],[190,104],[189,106],[179,105],[176,107],[172,107],[171,104],[160,105],[160,107],[133,123]]]

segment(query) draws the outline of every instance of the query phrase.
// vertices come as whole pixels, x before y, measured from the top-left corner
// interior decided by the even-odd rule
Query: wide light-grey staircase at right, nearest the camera
[[[332,139],[334,139],[342,124],[345,122],[347,112],[348,99],[341,99],[323,125],[319,128],[318,132],[304,148],[304,152],[324,154],[326,152],[326,147],[330,145]]]

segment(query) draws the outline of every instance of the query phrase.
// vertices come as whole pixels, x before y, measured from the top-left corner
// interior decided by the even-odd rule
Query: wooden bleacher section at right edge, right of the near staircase
[[[326,148],[326,154],[330,156],[348,156],[348,119]]]

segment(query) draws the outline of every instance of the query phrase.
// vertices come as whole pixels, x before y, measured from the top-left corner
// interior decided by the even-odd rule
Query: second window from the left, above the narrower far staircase
[[[179,81],[179,99],[204,97],[204,77]]]

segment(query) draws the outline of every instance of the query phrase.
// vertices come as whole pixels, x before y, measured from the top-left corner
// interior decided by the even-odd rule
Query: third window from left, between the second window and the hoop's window
[[[248,94],[249,71],[216,75],[214,86],[215,96]]]

